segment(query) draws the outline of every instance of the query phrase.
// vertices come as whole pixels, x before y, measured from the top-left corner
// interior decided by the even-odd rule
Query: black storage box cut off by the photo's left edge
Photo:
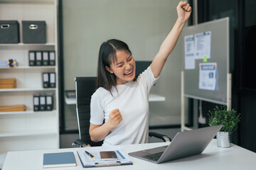
[[[0,43],[18,43],[18,21],[0,21]]]

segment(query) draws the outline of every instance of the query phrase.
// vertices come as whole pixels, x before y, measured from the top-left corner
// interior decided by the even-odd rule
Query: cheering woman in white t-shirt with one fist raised
[[[125,42],[108,40],[100,46],[97,91],[91,99],[92,141],[104,140],[103,145],[148,142],[149,91],[174,50],[181,30],[191,15],[191,6],[181,1],[177,13],[177,21],[159,52],[136,80],[135,61]]]

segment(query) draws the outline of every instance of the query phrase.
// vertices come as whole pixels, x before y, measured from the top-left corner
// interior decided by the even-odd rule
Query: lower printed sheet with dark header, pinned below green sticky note
[[[218,90],[217,63],[199,63],[199,89]]]

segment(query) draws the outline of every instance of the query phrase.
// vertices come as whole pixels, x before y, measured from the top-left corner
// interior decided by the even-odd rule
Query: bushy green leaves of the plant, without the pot
[[[223,125],[220,129],[222,132],[232,132],[238,128],[240,121],[240,113],[236,113],[234,109],[227,109],[226,106],[215,106],[213,111],[209,111],[209,125]]]

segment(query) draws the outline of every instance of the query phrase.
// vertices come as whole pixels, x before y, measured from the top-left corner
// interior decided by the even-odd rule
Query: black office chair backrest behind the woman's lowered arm
[[[101,146],[101,142],[90,140],[90,100],[96,89],[96,77],[75,77],[76,111],[80,140],[92,147]]]

